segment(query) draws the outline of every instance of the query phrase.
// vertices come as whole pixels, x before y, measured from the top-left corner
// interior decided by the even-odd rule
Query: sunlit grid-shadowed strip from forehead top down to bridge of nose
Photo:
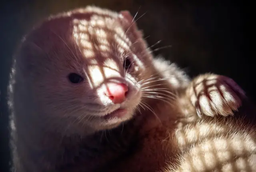
[[[137,71],[139,66],[144,67],[132,52],[132,42],[118,20],[123,18],[122,15],[94,9],[92,13],[90,9],[87,12],[91,14],[90,18],[73,20],[73,38],[77,50],[82,53],[80,58],[87,61],[87,74],[95,76],[89,81],[92,88],[102,84],[106,78],[120,77],[123,72],[120,71],[119,61],[122,63],[124,56],[128,54],[138,65],[134,66],[134,70]]]

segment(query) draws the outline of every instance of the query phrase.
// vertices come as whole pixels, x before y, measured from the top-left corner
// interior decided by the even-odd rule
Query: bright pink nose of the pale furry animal
[[[112,100],[114,104],[122,103],[126,99],[128,86],[122,83],[109,83],[105,95]]]

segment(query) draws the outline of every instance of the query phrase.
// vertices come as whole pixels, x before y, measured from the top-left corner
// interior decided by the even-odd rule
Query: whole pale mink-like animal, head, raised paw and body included
[[[233,161],[256,169],[253,126],[218,118],[238,109],[242,89],[215,74],[190,81],[154,59],[128,11],[88,6],[51,16],[14,59],[15,172],[218,171]]]

